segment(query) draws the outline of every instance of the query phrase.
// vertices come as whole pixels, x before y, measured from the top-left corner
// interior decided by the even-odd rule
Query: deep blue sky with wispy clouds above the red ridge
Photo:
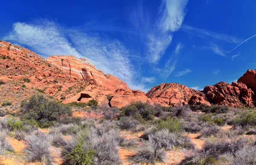
[[[132,89],[146,92],[176,82],[202,90],[256,69],[255,5],[240,0],[4,1],[0,38],[43,57],[87,58]]]

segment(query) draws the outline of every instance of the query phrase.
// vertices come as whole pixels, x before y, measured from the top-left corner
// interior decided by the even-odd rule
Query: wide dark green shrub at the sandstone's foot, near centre
[[[133,102],[121,109],[121,116],[133,116],[135,119],[148,119],[148,116],[154,115],[154,106],[141,101]],[[151,119],[151,118],[150,118]]]

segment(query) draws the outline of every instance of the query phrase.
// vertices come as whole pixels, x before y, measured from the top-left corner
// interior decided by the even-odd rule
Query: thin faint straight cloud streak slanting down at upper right
[[[222,40],[222,41],[229,42],[229,43],[240,43],[242,41],[241,39],[230,36],[230,35],[219,34],[216,32],[211,32],[211,31],[195,28],[195,27],[188,26],[188,25],[183,25],[183,26],[181,26],[180,29],[189,34],[196,35],[201,38],[210,37],[210,38]]]

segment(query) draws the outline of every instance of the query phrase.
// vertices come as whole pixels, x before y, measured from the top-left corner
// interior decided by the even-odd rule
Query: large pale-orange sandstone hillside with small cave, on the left
[[[124,81],[104,74],[87,59],[64,55],[44,59],[29,49],[5,41],[0,43],[0,56],[5,56],[5,59],[0,58],[0,80],[15,83],[13,89],[16,92],[10,93],[10,98],[14,101],[19,102],[38,93],[35,89],[41,89],[64,103],[88,102],[90,99],[116,107],[125,106],[132,101],[152,103],[145,93],[131,90]],[[23,78],[28,78],[30,82],[23,81]],[[24,90],[21,88],[23,84],[29,92],[16,96],[15,93]],[[107,95],[112,97],[111,103]]]

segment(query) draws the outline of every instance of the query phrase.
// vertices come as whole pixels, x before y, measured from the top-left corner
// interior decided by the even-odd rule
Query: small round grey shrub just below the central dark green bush
[[[118,126],[123,129],[123,130],[132,130],[132,129],[136,129],[137,125],[139,123],[132,119],[129,116],[123,116],[119,119],[118,121]]]

